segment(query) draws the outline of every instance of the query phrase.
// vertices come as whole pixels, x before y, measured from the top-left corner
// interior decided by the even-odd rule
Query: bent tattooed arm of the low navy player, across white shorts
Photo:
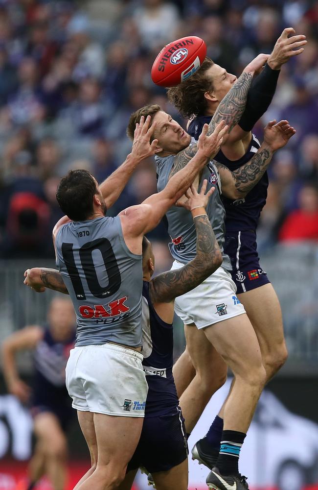
[[[222,254],[208,217],[197,216],[194,223],[197,231],[196,257],[181,269],[163,272],[151,281],[150,293],[154,303],[173,301],[196,288],[220,267]]]

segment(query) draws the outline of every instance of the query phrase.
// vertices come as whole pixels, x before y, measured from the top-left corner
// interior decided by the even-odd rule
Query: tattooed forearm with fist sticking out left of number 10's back
[[[55,269],[34,267],[24,272],[24,284],[37,293],[44,293],[45,288],[68,294],[61,272]]]

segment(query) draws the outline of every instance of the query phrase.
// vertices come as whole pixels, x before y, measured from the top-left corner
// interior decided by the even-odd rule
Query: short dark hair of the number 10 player
[[[85,221],[93,214],[96,183],[87,170],[71,170],[62,178],[56,199],[70,220]]]

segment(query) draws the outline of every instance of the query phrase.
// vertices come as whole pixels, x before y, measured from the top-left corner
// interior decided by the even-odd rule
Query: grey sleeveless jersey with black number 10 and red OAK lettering
[[[77,317],[75,345],[142,345],[142,256],[125,244],[120,218],[71,221],[55,246]]]

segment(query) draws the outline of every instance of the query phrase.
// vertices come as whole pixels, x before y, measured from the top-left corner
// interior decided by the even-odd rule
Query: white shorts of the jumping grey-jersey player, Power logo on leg
[[[183,266],[175,260],[171,270]],[[246,313],[236,296],[235,283],[223,267],[219,267],[192,291],[178,296],[175,299],[175,312],[186,325],[195,323],[199,329]]]

